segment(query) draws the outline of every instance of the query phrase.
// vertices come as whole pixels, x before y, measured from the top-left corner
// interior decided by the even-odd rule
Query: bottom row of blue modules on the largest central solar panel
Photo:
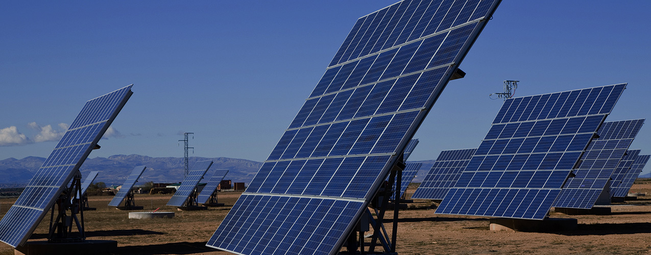
[[[243,194],[206,245],[239,254],[331,254],[362,205]]]

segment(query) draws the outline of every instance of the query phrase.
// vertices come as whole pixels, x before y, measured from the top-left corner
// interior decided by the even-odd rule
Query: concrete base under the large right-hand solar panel
[[[559,232],[576,230],[576,219],[545,219],[543,221],[525,219],[490,219],[490,230],[519,232]]]

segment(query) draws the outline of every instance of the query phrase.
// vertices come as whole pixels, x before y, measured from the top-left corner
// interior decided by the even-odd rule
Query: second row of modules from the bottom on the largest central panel
[[[363,199],[388,161],[385,155],[268,162],[253,178],[247,193]]]

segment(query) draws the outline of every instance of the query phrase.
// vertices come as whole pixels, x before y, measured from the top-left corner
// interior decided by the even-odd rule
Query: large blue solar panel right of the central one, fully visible
[[[544,219],[625,87],[506,100],[436,213]]]

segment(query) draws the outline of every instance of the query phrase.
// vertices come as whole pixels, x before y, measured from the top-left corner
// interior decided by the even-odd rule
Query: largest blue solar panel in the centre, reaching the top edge
[[[498,4],[401,1],[359,18],[207,245],[339,251]]]

